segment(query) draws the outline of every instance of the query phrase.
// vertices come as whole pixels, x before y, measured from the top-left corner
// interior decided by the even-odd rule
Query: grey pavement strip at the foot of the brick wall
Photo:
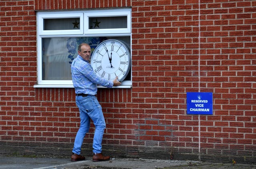
[[[0,169],[256,169],[256,165],[204,163],[200,161],[112,158],[92,162],[92,158],[71,162],[70,158],[0,156]]]

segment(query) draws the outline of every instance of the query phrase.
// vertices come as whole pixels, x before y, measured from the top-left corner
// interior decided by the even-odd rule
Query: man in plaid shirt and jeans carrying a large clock
[[[89,63],[91,47],[88,44],[80,44],[78,47],[78,56],[71,65],[72,81],[76,92],[76,105],[80,111],[80,128],[76,134],[74,148],[72,150],[71,161],[84,160],[80,155],[84,136],[90,129],[90,119],[95,125],[93,138],[93,157],[92,161],[107,161],[109,156],[102,155],[102,137],[106,128],[105,119],[102,113],[102,107],[98,102],[97,85],[113,87],[121,84],[117,80],[108,81],[98,77]]]

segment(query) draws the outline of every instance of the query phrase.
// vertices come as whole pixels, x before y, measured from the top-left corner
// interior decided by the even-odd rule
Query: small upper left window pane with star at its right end
[[[80,18],[44,19],[44,30],[80,29]]]

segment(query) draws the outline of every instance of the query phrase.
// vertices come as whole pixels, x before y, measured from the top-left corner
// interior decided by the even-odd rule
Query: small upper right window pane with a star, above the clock
[[[113,28],[127,28],[127,16],[89,18],[89,29]]]

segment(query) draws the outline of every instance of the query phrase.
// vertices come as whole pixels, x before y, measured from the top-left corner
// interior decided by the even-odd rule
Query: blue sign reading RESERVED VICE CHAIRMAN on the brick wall
[[[187,114],[212,115],[212,93],[187,92]]]

